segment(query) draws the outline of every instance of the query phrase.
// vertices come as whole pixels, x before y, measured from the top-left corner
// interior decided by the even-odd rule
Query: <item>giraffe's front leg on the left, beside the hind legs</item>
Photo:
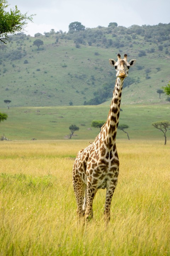
[[[85,220],[89,221],[93,218],[93,199],[97,192],[96,187],[93,187],[92,184],[87,181],[87,205],[85,210]]]

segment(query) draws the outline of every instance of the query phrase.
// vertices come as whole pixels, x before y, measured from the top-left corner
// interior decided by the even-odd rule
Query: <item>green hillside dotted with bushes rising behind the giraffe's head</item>
[[[36,46],[35,40],[41,40]],[[122,102],[163,103],[157,93],[169,81],[170,23],[19,33],[0,44],[0,107],[96,105],[112,97],[117,53],[137,59],[124,83]]]

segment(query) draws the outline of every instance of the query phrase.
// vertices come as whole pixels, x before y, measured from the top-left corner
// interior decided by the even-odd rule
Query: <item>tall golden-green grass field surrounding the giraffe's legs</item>
[[[0,255],[170,255],[170,145],[118,140],[111,221],[76,216],[72,165],[87,140],[0,142]]]

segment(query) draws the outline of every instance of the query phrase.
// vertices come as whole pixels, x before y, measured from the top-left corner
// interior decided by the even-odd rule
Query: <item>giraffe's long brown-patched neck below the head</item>
[[[103,137],[102,139],[108,148],[112,148],[112,146],[115,144],[115,138],[119,124],[120,101],[123,82],[124,78],[117,78],[115,82],[111,108],[109,110],[107,121],[101,130],[101,135]]]

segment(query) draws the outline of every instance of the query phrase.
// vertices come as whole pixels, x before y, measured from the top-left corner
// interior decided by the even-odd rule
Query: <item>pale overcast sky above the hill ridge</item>
[[[169,0],[7,0],[10,7],[17,5],[22,14],[36,14],[24,33],[34,36],[52,28],[68,32],[71,22],[81,22],[86,28],[157,25],[170,22]]]

